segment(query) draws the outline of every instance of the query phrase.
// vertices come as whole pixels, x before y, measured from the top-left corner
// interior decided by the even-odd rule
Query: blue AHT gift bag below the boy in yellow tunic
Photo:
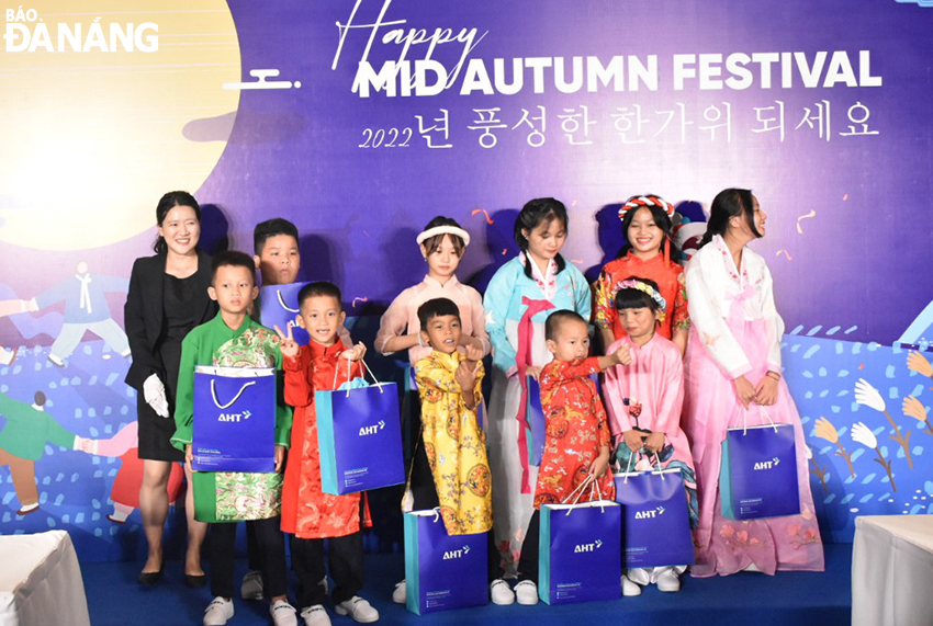
[[[424,615],[488,603],[486,533],[448,535],[440,510],[405,519],[405,606]]]

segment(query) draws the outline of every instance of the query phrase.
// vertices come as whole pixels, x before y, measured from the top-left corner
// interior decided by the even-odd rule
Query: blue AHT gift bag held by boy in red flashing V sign
[[[398,387],[348,387],[314,392],[322,489],[339,496],[405,482]]]

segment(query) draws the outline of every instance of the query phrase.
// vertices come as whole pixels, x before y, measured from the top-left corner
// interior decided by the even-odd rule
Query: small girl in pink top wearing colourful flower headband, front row
[[[618,284],[615,308],[625,330],[607,353],[627,346],[630,365],[606,369],[603,396],[609,429],[618,443],[616,460],[626,470],[642,471],[660,465],[679,469],[686,486],[692,526],[697,522],[694,459],[687,435],[681,430],[684,403],[684,365],[679,349],[656,331],[667,306],[657,284],[630,277]],[[622,594],[639,595],[641,587],[657,583],[661,591],[678,591],[677,578],[685,566],[629,568],[622,577]]]

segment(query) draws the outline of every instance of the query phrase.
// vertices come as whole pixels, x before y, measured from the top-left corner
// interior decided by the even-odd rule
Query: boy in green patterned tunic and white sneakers
[[[254,261],[243,252],[222,252],[212,263],[213,278],[207,289],[220,305],[213,320],[188,333],[181,343],[181,364],[176,399],[176,433],[171,442],[186,452],[191,464],[193,431],[194,368],[198,365],[224,367],[282,367],[278,335],[250,319],[247,309],[256,299]],[[291,434],[291,411],[278,402],[276,414],[276,471],[193,474],[194,511],[207,522],[211,532],[211,593],[215,596],[204,613],[204,626],[223,626],[233,617],[233,567],[236,522],[251,520],[262,554],[262,578],[271,599],[270,614],[276,626],[295,626],[294,607],[289,604],[285,542],[280,531],[282,463]]]

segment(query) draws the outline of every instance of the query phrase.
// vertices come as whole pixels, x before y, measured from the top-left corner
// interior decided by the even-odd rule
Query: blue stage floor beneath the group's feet
[[[548,606],[495,606],[465,608],[418,617],[391,600],[394,583],[402,578],[401,555],[367,555],[367,589],[362,592],[380,613],[380,624],[460,625],[508,623],[547,626],[575,622],[619,624],[744,626],[835,626],[850,624],[852,589],[850,571],[852,546],[825,547],[827,571],[740,573],[726,578],[683,577],[679,593],[661,593],[650,587],[639,597],[612,602]],[[169,562],[162,582],[154,589],[140,589],[136,574],[142,564],[82,564],[85,588],[93,626],[172,626],[201,624],[201,615],[211,600],[209,591],[190,590],[182,583],[181,564]],[[246,562],[237,561],[237,581],[246,572]],[[268,604],[234,600],[236,615],[231,626],[269,624]],[[330,613],[335,626],[355,624],[349,617]],[[67,623],[63,622],[63,623]]]

